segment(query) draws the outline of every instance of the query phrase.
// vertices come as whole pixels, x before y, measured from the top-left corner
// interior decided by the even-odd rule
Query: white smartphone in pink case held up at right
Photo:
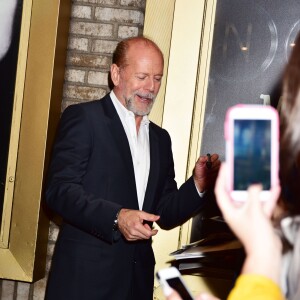
[[[278,182],[279,117],[271,106],[237,104],[225,117],[227,184],[232,199],[245,201],[247,189],[262,184],[262,201]]]

